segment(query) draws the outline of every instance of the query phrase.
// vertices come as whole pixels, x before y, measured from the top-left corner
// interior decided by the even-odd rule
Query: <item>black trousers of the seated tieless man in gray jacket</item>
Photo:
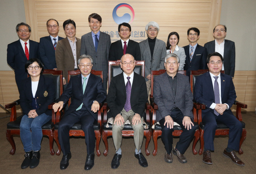
[[[190,146],[191,140],[194,138],[194,133],[196,132],[196,127],[191,125],[191,129],[185,129],[185,127],[182,125],[182,120],[184,118],[183,113],[180,109],[173,109],[170,113],[170,116],[172,117],[172,120],[176,123],[178,123],[182,129],[182,133],[180,135],[180,140],[176,144],[176,148],[178,151],[180,151],[181,154],[184,154],[187,150],[187,148]],[[194,123],[193,119],[190,118],[192,123]],[[159,123],[162,128],[162,141],[164,143],[165,150],[168,154],[172,151],[172,144],[173,144],[173,137],[172,132],[174,129],[167,128],[167,124],[165,124],[165,118],[162,118]]]

